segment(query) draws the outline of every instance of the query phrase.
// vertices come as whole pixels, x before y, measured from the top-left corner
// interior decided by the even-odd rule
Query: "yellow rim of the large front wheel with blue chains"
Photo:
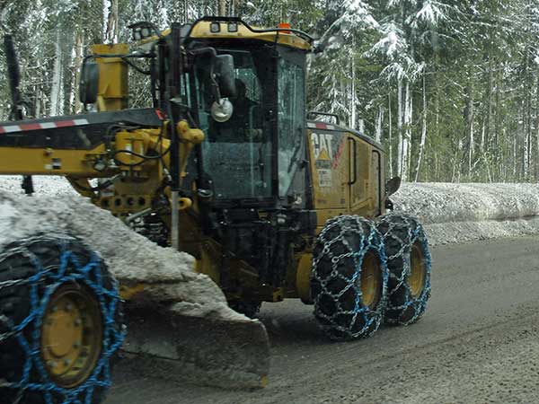
[[[52,382],[64,388],[83,383],[101,355],[102,314],[86,288],[60,286],[50,296],[41,325],[41,357]]]

